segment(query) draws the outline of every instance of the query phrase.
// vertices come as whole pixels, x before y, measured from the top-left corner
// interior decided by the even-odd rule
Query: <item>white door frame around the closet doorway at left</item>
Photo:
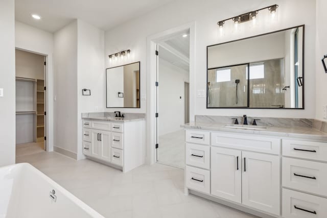
[[[42,55],[42,56],[44,56],[44,60],[45,60],[45,66],[44,66],[44,86],[46,87],[46,90],[45,90],[45,92],[44,92],[44,103],[45,103],[45,106],[44,106],[44,111],[46,111],[46,115],[44,115],[44,136],[46,137],[46,140],[44,140],[44,148],[45,148],[45,151],[46,152],[49,152],[49,143],[48,143],[48,135],[49,135],[49,128],[48,128],[48,126],[49,126],[49,119],[48,119],[48,117],[49,117],[49,113],[48,113],[48,110],[49,110],[49,106],[48,106],[48,100],[49,100],[49,96],[48,96],[48,93],[49,93],[49,91],[48,91],[48,89],[49,89],[49,87],[48,87],[48,78],[49,78],[49,75],[48,75],[48,71],[49,71],[49,69],[48,69],[48,55],[47,54],[42,54],[42,53],[39,53],[39,52],[34,52],[34,51],[30,51],[30,50],[26,50],[26,49],[21,49],[20,47],[15,47],[15,50],[20,50],[20,51],[24,51],[24,52],[29,52],[29,53],[33,53],[33,54],[37,54],[37,55]],[[53,150],[53,148],[52,149],[50,149],[50,151],[52,151]]]

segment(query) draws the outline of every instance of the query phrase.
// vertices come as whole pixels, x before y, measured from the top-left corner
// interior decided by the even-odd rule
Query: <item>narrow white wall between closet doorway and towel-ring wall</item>
[[[54,34],[54,54],[54,146],[77,158],[77,20]]]

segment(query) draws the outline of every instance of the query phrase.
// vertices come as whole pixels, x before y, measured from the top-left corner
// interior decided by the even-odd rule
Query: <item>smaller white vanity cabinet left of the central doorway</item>
[[[123,172],[144,164],[144,120],[83,119],[83,154]]]

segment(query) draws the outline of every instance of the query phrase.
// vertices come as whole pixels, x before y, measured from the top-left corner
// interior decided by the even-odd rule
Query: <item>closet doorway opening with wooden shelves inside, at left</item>
[[[16,157],[47,150],[46,56],[15,50]]]

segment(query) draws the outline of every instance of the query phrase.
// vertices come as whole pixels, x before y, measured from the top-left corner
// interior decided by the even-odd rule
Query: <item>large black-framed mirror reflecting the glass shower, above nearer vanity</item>
[[[304,109],[305,26],[207,46],[207,108]]]

